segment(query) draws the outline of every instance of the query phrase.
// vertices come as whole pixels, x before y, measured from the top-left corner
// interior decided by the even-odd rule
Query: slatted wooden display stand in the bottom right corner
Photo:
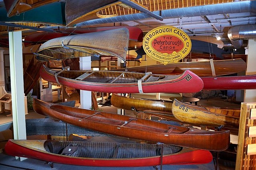
[[[236,170],[256,170],[256,103],[242,103]]]

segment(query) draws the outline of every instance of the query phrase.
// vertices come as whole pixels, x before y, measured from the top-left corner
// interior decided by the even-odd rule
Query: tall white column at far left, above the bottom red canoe
[[[9,48],[14,139],[26,139],[21,31],[9,32]]]

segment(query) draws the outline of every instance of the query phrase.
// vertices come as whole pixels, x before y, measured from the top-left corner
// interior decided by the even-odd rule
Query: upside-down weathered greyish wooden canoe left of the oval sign
[[[37,59],[50,61],[111,55],[125,61],[128,43],[129,31],[127,28],[58,37],[50,39],[40,46]]]

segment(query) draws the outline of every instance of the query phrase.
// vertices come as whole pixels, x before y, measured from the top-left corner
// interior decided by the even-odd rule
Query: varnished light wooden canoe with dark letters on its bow
[[[240,109],[210,108],[186,104],[174,99],[172,114],[176,119],[192,125],[239,127]]]

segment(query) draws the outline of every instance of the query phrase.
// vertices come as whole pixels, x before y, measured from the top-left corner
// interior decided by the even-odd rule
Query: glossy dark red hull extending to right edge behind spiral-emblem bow
[[[207,90],[256,89],[256,75],[201,78]]]

